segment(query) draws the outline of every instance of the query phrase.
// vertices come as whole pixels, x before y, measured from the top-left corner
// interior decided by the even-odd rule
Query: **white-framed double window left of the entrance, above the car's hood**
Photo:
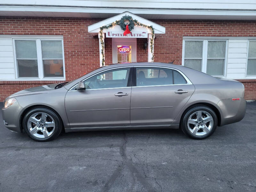
[[[62,39],[14,39],[16,78],[64,79]]]

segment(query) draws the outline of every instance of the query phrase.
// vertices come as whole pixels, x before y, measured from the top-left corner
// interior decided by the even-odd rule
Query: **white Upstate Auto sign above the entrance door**
[[[124,36],[124,31],[107,31],[106,37],[117,37],[117,38],[148,38],[148,32],[146,31],[131,31],[130,34]]]

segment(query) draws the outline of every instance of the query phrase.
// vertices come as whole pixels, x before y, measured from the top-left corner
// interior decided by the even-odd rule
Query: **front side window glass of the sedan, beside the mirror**
[[[130,68],[113,69],[84,81],[85,89],[127,87]]]

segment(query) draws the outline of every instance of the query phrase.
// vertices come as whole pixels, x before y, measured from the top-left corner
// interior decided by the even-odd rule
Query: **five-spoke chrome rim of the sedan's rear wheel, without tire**
[[[196,136],[209,133],[212,127],[213,118],[206,111],[196,111],[188,117],[188,130]]]

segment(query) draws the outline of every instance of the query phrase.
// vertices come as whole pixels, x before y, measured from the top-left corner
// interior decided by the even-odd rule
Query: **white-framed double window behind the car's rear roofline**
[[[183,65],[212,76],[225,76],[227,41],[218,39],[186,39]]]

